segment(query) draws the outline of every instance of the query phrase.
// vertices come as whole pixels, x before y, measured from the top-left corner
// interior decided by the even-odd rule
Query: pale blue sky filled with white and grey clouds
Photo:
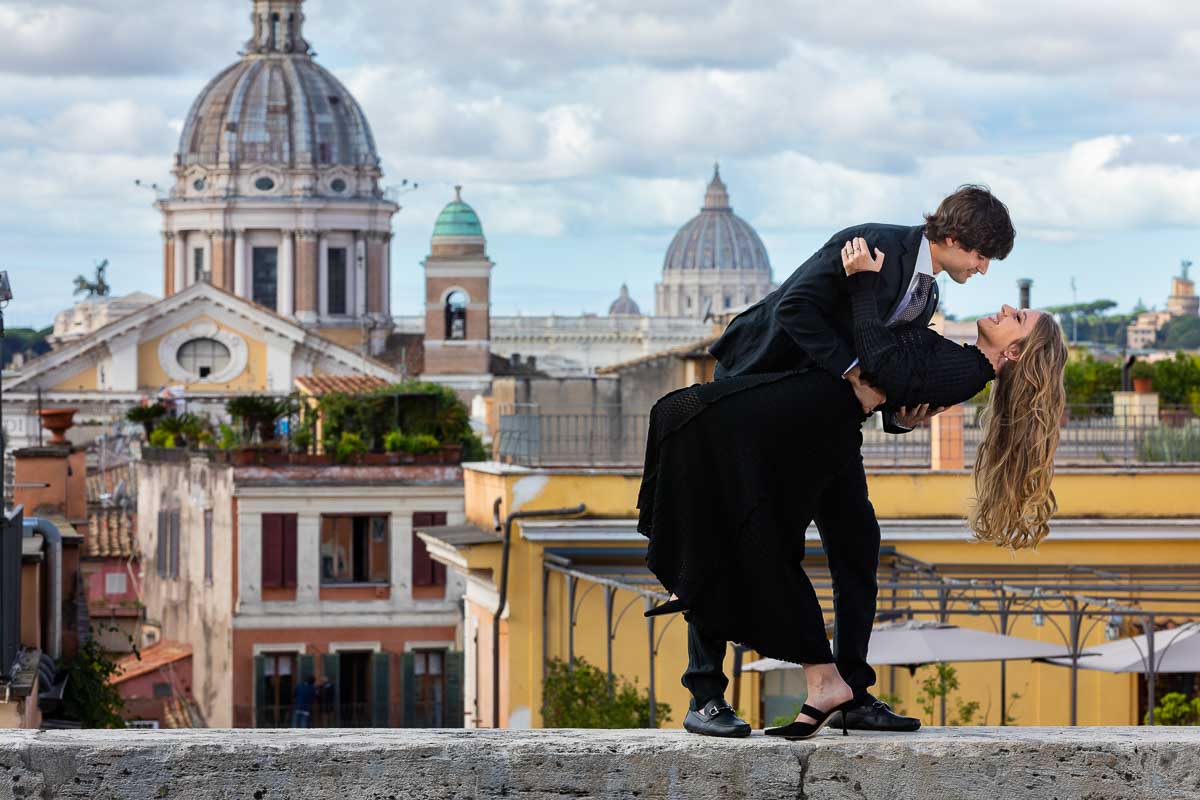
[[[236,58],[250,0],[0,0],[0,269],[44,325],[108,258],[162,290],[154,194],[194,96]],[[1162,305],[1200,257],[1200,4],[1166,0],[308,0],[402,198],[392,307],[415,313],[438,210],[466,186],[497,313],[653,308],[712,163],[782,281],[834,230],[917,223],[985,182],[1007,261],[943,295],[982,313]],[[1200,259],[1198,259],[1200,260]]]

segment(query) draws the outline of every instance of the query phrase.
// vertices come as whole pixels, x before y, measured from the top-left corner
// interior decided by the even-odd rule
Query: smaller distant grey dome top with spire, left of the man
[[[704,192],[704,206],[679,229],[662,270],[751,270],[770,272],[767,247],[750,223],[733,213],[719,167]]]

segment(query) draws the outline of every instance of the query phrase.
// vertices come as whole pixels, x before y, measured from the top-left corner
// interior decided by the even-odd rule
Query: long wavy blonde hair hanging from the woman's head
[[[1054,455],[1067,407],[1058,324],[1043,314],[1019,344],[1020,356],[1000,369],[984,410],[970,517],[977,539],[1013,549],[1037,547],[1050,533],[1058,510],[1050,488]]]

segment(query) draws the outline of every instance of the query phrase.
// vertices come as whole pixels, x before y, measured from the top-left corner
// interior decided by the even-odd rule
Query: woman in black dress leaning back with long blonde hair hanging
[[[997,545],[1036,546],[1056,507],[1062,332],[1049,314],[1008,306],[978,321],[977,345],[928,329],[892,331],[872,294],[882,263],[844,252],[863,378],[892,409],[954,405],[997,379],[971,525]],[[823,369],[697,384],[650,413],[637,503],[647,564],[706,636],[805,667],[815,708],[782,735],[816,733],[853,694],[833,663],[802,559],[817,498],[860,458],[862,422],[850,384]]]

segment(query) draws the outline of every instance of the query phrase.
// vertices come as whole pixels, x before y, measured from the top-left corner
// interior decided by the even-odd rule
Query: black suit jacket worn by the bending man
[[[781,372],[818,366],[841,377],[854,361],[854,337],[841,248],[862,236],[874,255],[883,251],[875,282],[880,319],[888,319],[904,300],[917,269],[924,225],[864,224],[833,235],[800,264],[781,287],[738,314],[709,348],[718,377]],[[911,324],[926,327],[936,300]]]

